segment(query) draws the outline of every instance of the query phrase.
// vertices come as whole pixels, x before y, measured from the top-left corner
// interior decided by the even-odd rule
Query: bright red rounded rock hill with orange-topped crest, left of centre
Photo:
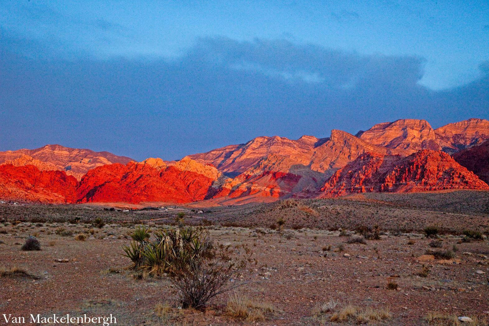
[[[161,162],[151,159],[90,170],[80,180],[78,202],[187,203],[204,199],[221,177],[216,168],[188,157],[171,166],[163,167]]]

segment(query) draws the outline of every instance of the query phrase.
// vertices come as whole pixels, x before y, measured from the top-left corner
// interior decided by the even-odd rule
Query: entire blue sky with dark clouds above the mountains
[[[0,2],[0,151],[172,160],[489,119],[489,2]]]

